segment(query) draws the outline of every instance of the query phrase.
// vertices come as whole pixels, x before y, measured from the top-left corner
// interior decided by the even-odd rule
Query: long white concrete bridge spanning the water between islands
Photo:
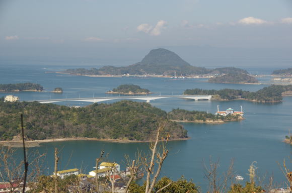
[[[182,98],[182,99],[192,99],[195,101],[198,100],[210,100],[211,95],[158,95],[158,96],[109,96],[109,97],[96,97],[96,98],[76,98],[76,99],[52,99],[52,100],[36,100],[39,103],[56,103],[56,102],[65,102],[65,101],[80,101],[80,102],[91,102],[98,103],[109,100],[116,99],[136,99],[143,100],[147,103],[150,103],[152,100],[156,99],[166,99],[166,98]],[[33,102],[33,101],[29,101]]]

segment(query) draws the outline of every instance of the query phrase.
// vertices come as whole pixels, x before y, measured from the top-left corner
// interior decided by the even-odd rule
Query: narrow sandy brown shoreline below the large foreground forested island
[[[168,141],[183,141],[188,140],[187,138],[179,138],[179,139],[169,139]],[[151,140],[147,141],[135,141],[135,140],[121,140],[121,139],[97,139],[97,138],[87,138],[87,137],[77,137],[77,138],[57,138],[57,139],[42,139],[42,140],[32,140],[25,141],[26,147],[39,147],[42,143],[51,143],[51,142],[62,142],[62,141],[104,141],[110,143],[149,143]],[[162,141],[162,140],[160,140]],[[0,145],[10,146],[10,147],[22,147],[22,141],[0,141]]]

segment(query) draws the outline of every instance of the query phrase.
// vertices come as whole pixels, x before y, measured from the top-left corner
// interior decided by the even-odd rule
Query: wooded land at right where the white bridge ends
[[[270,85],[256,92],[245,91],[241,89],[221,89],[221,90],[205,90],[200,88],[186,89],[183,94],[209,94],[212,95],[212,100],[235,100],[245,99],[254,102],[273,103],[281,102],[285,93],[292,91],[292,85]]]

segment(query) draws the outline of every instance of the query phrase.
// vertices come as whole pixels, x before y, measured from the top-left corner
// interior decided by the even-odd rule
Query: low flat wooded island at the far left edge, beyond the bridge
[[[0,84],[0,92],[19,92],[19,91],[42,91],[40,84],[31,82],[17,84]]]

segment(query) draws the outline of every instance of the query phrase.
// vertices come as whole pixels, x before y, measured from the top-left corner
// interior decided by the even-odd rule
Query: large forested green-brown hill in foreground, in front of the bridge
[[[20,114],[24,116],[28,140],[57,138],[96,138],[132,141],[151,140],[159,121],[167,113],[148,103],[121,101],[70,108],[38,102],[0,101],[1,140],[12,140],[20,133]],[[187,131],[179,124],[166,121],[164,134],[171,140],[187,139]]]

